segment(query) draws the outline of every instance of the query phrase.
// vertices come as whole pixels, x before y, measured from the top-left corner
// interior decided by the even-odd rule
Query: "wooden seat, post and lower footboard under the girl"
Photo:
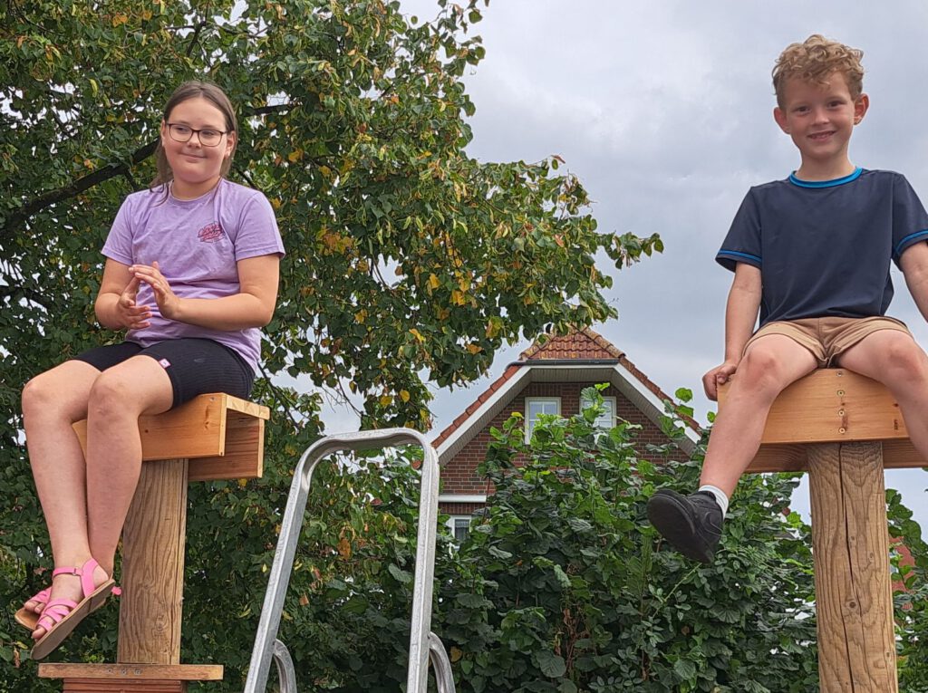
[[[183,693],[217,681],[218,664],[180,663],[187,482],[257,479],[264,471],[266,406],[203,394],[140,417],[142,465],[122,529],[122,597],[116,663],[39,665],[65,693]],[[74,424],[86,452],[86,421]]]

